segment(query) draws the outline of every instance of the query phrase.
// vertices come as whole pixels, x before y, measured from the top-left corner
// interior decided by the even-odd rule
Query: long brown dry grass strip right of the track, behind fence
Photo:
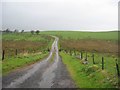
[[[96,51],[101,53],[118,53],[118,44],[104,40],[61,40],[64,49],[75,49],[78,51]]]

